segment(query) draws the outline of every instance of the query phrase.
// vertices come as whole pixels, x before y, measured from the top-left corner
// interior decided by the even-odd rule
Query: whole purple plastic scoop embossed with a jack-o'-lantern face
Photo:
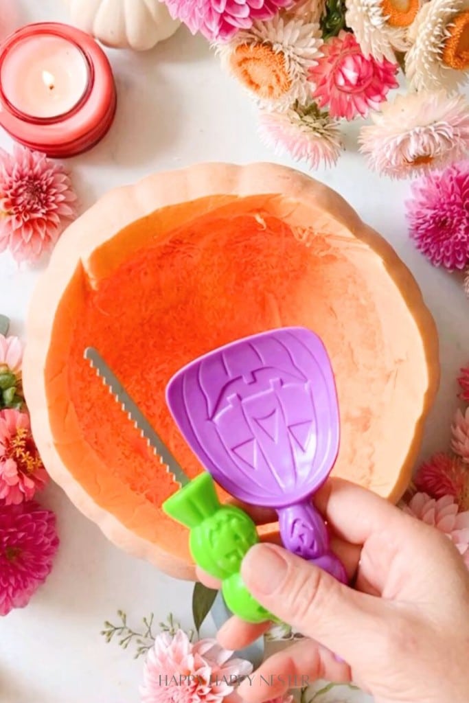
[[[311,504],[340,439],[333,370],[317,335],[282,328],[215,349],[174,375],[167,404],[220,486],[275,508],[285,548],[346,581]]]

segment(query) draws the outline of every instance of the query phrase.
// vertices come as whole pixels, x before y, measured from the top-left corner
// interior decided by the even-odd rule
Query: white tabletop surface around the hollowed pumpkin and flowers
[[[61,0],[0,0],[0,31],[41,20],[67,21]],[[219,67],[205,41],[181,29],[149,53],[110,51],[119,108],[107,138],[70,160],[81,207],[115,186],[154,171],[200,161],[277,161],[255,131],[250,99]],[[353,130],[353,131],[352,131]],[[404,220],[408,182],[379,179],[356,153],[356,128],[340,167],[316,173],[380,231],[413,271],[435,316],[441,340],[442,385],[425,434],[422,456],[444,449],[455,406],[455,378],[469,361],[469,302],[461,281],[433,269],[409,241]],[[0,134],[0,146],[12,142]],[[299,167],[300,169],[302,166]],[[0,313],[23,335],[38,272],[0,255]],[[174,581],[105,540],[63,491],[50,486],[41,502],[58,514],[61,547],[56,565],[25,610],[0,619],[1,703],[138,703],[142,660],[105,644],[103,621],[125,610],[131,624],[174,612],[191,626],[192,584]],[[206,631],[210,633],[210,625]],[[362,700],[361,697],[359,697]]]

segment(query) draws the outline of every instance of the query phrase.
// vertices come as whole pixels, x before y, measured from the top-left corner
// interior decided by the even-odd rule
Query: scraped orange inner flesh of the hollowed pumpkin
[[[312,228],[293,231],[269,214],[266,196],[226,200],[213,199],[224,209],[206,214],[200,201],[160,210],[95,250],[58,306],[46,366],[53,437],[70,473],[128,529],[186,560],[186,530],[160,509],[174,483],[84,361],[85,347],[97,347],[191,477],[201,468],[167,410],[169,378],[214,347],[283,325],[315,330],[333,361],[342,413],[335,473],[389,494],[408,449],[375,463],[378,444],[386,457],[385,441],[392,446],[386,413],[394,432],[408,424],[392,389],[406,345],[420,339],[404,302],[377,307],[395,290],[379,281],[380,258],[365,245],[356,257],[340,238],[331,246]],[[383,332],[395,324],[400,356]],[[413,378],[406,386],[420,404],[423,380],[410,368]]]

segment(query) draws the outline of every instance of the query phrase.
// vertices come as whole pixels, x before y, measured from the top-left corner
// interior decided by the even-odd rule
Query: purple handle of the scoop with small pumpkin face
[[[285,549],[347,583],[345,568],[330,551],[326,525],[314,505],[304,501],[279,508],[277,512]]]

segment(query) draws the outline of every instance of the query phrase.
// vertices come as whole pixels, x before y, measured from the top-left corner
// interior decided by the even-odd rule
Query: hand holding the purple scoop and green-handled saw
[[[241,571],[246,586],[306,639],[267,659],[240,697],[262,703],[325,678],[353,681],[376,703],[468,703],[469,572],[451,541],[339,479],[314,502],[354,589],[280,546],[252,547]],[[239,649],[262,627],[233,617],[219,642]]]

